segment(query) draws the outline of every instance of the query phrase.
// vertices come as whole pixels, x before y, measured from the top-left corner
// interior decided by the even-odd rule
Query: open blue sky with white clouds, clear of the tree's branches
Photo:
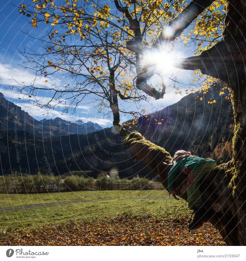
[[[24,81],[25,83],[31,83],[34,80],[34,73],[31,70],[25,70],[19,66],[23,61],[25,61],[21,51],[24,49],[28,49],[30,46],[32,48],[39,48],[38,42],[34,42],[34,39],[29,37],[24,32],[29,32],[34,38],[38,38],[39,35],[43,34],[43,31],[47,30],[47,24],[39,24],[38,29],[33,29],[33,27],[27,23],[27,17],[19,14],[18,6],[23,3],[27,3],[28,0],[3,0],[1,1],[0,6],[0,18],[1,18],[1,26],[0,33],[2,35],[2,39],[0,41],[0,89],[4,94],[6,99],[18,104],[25,111],[27,111],[31,116],[36,118],[37,120],[41,120],[42,118],[55,118],[61,117],[66,120],[78,120],[82,119],[83,121],[93,121],[97,122],[103,127],[112,125],[112,115],[111,118],[103,118],[102,113],[98,113],[97,109],[93,107],[90,100],[91,97],[87,97],[87,99],[79,105],[79,108],[76,110],[74,114],[66,114],[61,111],[61,108],[57,108],[53,111],[49,111],[47,115],[47,111],[45,109],[40,109],[37,106],[30,106],[29,103],[22,99],[22,94],[18,92],[18,89],[14,89],[11,91],[11,86],[16,82],[12,79],[16,79],[18,82]],[[17,7],[16,7],[17,6]],[[183,55],[192,55],[192,48],[183,48],[183,46],[179,47],[182,50]],[[167,68],[167,76],[172,75],[174,70]],[[178,78],[182,79],[184,82],[190,81],[191,72],[185,70],[177,70]],[[165,94],[164,98],[159,101],[153,101],[151,103],[142,102],[141,105],[143,108],[147,109],[147,111],[153,110],[153,108],[164,108],[168,105],[171,105],[177,101],[179,101],[183,96],[176,95],[171,88],[173,83],[169,81],[168,77],[166,78],[167,82],[167,94]],[[48,85],[59,85],[61,83],[66,83],[66,79],[62,78],[59,73],[56,73],[52,78],[48,77]],[[155,77],[153,77],[152,81],[155,81]],[[36,79],[35,84],[44,85],[43,79]],[[46,84],[47,86],[47,84]],[[187,85],[180,85],[181,89],[187,89]],[[45,99],[47,97],[47,93],[40,92],[38,93],[39,97]],[[21,100],[19,99],[21,98]],[[121,105],[121,106],[129,106],[129,105]],[[127,107],[126,107],[127,108]],[[121,115],[121,122],[127,120],[128,118],[124,115]]]

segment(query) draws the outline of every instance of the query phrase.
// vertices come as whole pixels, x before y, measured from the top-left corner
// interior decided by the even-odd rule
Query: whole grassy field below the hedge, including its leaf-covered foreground
[[[0,195],[2,208],[52,202],[55,206],[0,212],[0,245],[170,245],[173,237],[174,245],[186,237],[182,242],[189,245],[224,244],[210,224],[188,240],[194,238],[188,234],[191,211],[163,190]]]

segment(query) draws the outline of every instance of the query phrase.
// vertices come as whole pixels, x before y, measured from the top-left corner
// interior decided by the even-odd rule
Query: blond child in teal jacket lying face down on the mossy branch
[[[173,182],[176,176],[181,172],[188,175],[186,185],[188,208],[193,209],[195,213],[189,230],[197,229],[209,220],[206,210],[202,207],[202,193],[199,189],[200,180],[204,174],[216,167],[215,160],[192,156],[188,151],[178,150],[175,152],[171,163],[174,165],[168,173],[169,194],[176,198],[173,190]]]

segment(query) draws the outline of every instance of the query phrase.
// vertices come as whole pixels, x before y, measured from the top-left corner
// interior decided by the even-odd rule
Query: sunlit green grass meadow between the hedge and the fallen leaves
[[[54,206],[30,206],[47,203]],[[0,194],[0,207],[1,211],[9,207],[26,208],[0,212],[2,231],[38,228],[43,224],[65,223],[68,219],[100,220],[125,214],[133,217],[173,215],[178,218],[190,214],[184,200],[174,200],[163,190]]]

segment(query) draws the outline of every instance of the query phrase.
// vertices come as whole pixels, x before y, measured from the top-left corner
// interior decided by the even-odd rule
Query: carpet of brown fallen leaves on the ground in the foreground
[[[188,232],[185,218],[157,218],[128,215],[69,220],[31,230],[18,230],[0,236],[0,245],[10,246],[217,246],[225,245],[218,230],[210,223]]]

